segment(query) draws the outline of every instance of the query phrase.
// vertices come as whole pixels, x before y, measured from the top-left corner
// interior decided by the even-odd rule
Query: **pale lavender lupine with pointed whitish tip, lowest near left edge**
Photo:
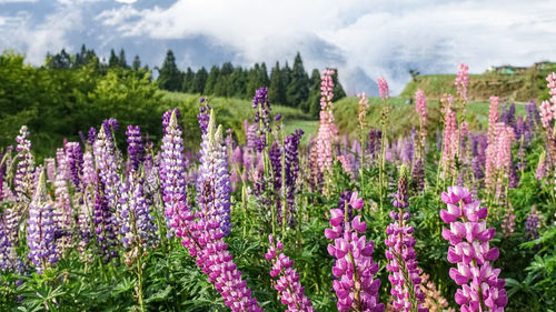
[[[29,258],[37,268],[37,273],[58,261],[54,232],[57,231],[52,207],[47,199],[44,173],[41,172],[39,187],[29,204],[27,220],[27,244]]]

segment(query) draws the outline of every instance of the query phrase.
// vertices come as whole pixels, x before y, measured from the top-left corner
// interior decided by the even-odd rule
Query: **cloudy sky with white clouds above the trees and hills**
[[[556,1],[393,0],[0,0],[0,50],[41,64],[81,43],[108,57],[126,49],[151,67],[168,49],[181,69],[231,61],[336,67],[349,93],[393,93],[421,73],[556,60]]]

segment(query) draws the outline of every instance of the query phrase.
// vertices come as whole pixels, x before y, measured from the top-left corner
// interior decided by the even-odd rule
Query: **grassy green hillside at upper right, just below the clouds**
[[[470,74],[468,94],[473,101],[488,101],[490,95],[519,102],[545,99],[547,94],[545,78],[552,71],[556,71],[556,63],[546,62],[515,73]],[[411,97],[417,89],[423,89],[427,98],[439,99],[446,92],[455,92],[455,74],[419,76],[406,85],[401,95]]]

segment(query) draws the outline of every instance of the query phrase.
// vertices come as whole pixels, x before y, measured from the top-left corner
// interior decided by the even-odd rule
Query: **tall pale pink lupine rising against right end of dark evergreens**
[[[328,171],[332,165],[332,143],[337,134],[334,124],[332,69],[326,69],[320,77],[320,125],[317,134],[317,162],[320,172]]]

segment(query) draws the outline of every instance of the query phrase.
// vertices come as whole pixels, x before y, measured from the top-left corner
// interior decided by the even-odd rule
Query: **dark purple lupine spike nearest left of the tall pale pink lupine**
[[[292,134],[286,137],[284,141],[284,165],[286,182],[286,212],[289,214],[289,221],[292,222],[296,204],[297,180],[299,178],[299,142],[304,131],[297,129]]]

